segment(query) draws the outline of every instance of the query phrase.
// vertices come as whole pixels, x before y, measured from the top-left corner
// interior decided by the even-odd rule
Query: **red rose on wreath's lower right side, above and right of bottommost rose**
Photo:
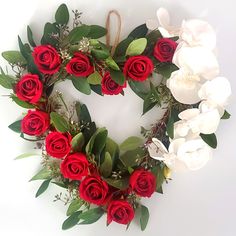
[[[151,197],[156,189],[156,177],[146,170],[135,170],[129,183],[132,190],[141,197]]]

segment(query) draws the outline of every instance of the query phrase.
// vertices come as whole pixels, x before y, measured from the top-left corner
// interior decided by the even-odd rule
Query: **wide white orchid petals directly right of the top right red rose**
[[[172,62],[179,68],[207,80],[211,80],[219,74],[216,56],[211,50],[202,46],[190,47],[186,43],[180,43]]]

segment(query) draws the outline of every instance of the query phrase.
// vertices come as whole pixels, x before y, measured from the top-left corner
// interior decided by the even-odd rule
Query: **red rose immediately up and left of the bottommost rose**
[[[80,197],[96,205],[106,202],[108,191],[108,184],[99,176],[87,176],[79,186]]]

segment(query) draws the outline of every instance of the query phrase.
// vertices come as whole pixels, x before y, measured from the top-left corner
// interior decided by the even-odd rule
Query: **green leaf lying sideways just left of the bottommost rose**
[[[79,219],[83,220],[79,224],[92,224],[98,221],[103,214],[104,210],[101,207],[89,209],[79,215]]]

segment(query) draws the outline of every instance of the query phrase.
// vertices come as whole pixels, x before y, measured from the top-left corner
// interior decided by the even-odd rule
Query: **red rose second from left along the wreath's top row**
[[[76,52],[66,65],[66,71],[75,76],[87,77],[94,72],[94,68],[86,55]]]

